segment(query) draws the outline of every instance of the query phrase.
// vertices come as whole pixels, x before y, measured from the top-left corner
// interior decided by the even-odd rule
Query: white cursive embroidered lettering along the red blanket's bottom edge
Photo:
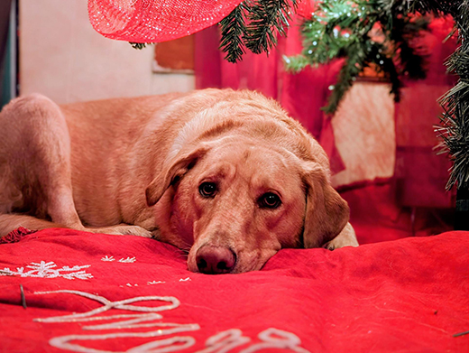
[[[161,296],[141,296],[123,301],[111,302],[105,297],[97,294],[90,294],[80,291],[51,291],[51,292],[36,292],[35,294],[50,294],[50,293],[70,293],[76,294],[103,304],[102,307],[82,312],[74,313],[64,316],[55,316],[45,319],[34,319],[40,322],[82,322],[82,321],[95,321],[95,320],[118,320],[111,323],[88,325],[84,326],[83,330],[124,330],[124,329],[137,329],[137,328],[150,328],[159,327],[159,330],[152,330],[148,332],[114,332],[107,334],[96,335],[67,335],[53,338],[49,341],[51,346],[55,348],[68,349],[76,352],[83,353],[119,353],[97,348],[87,348],[80,346],[77,343],[70,343],[76,340],[104,340],[104,339],[122,339],[122,338],[159,338],[164,335],[170,335],[179,332],[200,330],[197,323],[179,324],[168,322],[154,322],[154,320],[161,320],[162,316],[159,311],[170,311],[179,307],[179,300],[175,297],[161,297]],[[142,301],[160,301],[168,302],[167,305],[161,305],[156,308],[130,305],[133,302]],[[119,309],[125,311],[140,311],[140,314],[120,314],[108,316],[96,316],[104,311],[111,309]],[[153,321],[153,322],[152,322]],[[239,353],[253,353],[265,348],[282,348],[290,349],[297,353],[310,353],[307,349],[301,348],[301,340],[293,333],[284,330],[270,328],[263,330],[258,335],[262,342],[255,343],[248,348],[244,348]],[[251,341],[250,338],[243,336],[243,332],[239,329],[230,329],[219,332],[210,337],[206,341],[206,348],[198,350],[197,353],[227,353],[234,348],[243,346]],[[152,342],[144,343],[143,345],[130,348],[124,353],[165,353],[182,350],[193,346],[196,339],[189,336],[176,336],[170,339],[158,339]]]

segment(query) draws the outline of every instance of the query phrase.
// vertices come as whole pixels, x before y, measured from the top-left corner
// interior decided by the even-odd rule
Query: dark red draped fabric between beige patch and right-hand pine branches
[[[443,112],[437,100],[455,85],[444,65],[455,51],[454,37],[445,42],[452,28],[451,19],[439,18],[418,38],[417,51],[427,57],[427,79],[406,81],[396,104],[397,197],[404,206],[450,208],[455,202],[454,193],[445,191],[451,163],[437,155],[441,141],[434,131]]]

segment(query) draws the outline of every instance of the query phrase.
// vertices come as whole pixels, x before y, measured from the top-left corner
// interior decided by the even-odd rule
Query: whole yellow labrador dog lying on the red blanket
[[[258,270],[282,247],[358,246],[326,153],[261,94],[66,106],[32,95],[7,105],[0,126],[0,236],[155,237],[206,274]]]

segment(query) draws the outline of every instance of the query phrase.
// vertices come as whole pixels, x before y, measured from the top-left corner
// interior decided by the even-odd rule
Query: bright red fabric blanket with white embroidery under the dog
[[[152,239],[49,229],[0,245],[0,351],[465,352],[468,248],[451,232],[285,249],[206,275]]]

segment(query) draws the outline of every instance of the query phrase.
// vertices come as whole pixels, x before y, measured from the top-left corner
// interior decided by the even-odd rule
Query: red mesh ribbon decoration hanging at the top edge
[[[165,42],[220,22],[243,0],[88,0],[89,21],[107,38]]]

